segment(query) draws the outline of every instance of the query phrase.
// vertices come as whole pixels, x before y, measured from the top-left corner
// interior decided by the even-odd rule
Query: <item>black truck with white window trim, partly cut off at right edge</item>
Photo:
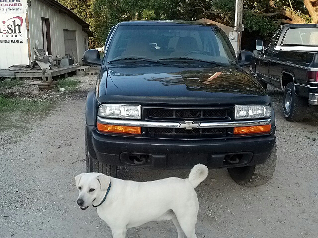
[[[304,119],[308,104],[318,105],[318,25],[290,24],[279,27],[264,48],[256,41],[254,77],[284,91],[287,120]]]

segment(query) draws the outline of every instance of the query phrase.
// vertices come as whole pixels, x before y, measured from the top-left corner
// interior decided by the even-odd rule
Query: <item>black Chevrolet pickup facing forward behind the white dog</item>
[[[276,166],[271,98],[216,25],[131,21],[84,54],[101,65],[86,102],[86,169],[228,168],[239,184],[266,183]]]

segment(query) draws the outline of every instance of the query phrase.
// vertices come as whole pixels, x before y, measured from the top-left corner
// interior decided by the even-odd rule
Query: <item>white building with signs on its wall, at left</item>
[[[89,25],[56,0],[0,0],[0,69],[30,64],[34,48],[81,63],[89,36]]]

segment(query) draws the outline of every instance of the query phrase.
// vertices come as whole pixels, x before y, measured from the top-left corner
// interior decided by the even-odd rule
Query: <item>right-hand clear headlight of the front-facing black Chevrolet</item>
[[[269,105],[236,105],[235,119],[269,118],[271,108]]]

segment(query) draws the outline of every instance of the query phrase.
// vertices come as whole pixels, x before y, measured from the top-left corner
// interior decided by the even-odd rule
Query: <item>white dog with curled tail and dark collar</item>
[[[150,182],[115,179],[104,174],[75,177],[77,203],[85,210],[97,207],[98,216],[111,228],[113,238],[125,238],[128,228],[150,221],[172,220],[178,238],[196,238],[199,202],[194,188],[208,176],[208,168],[196,165],[188,179],[168,178]]]

